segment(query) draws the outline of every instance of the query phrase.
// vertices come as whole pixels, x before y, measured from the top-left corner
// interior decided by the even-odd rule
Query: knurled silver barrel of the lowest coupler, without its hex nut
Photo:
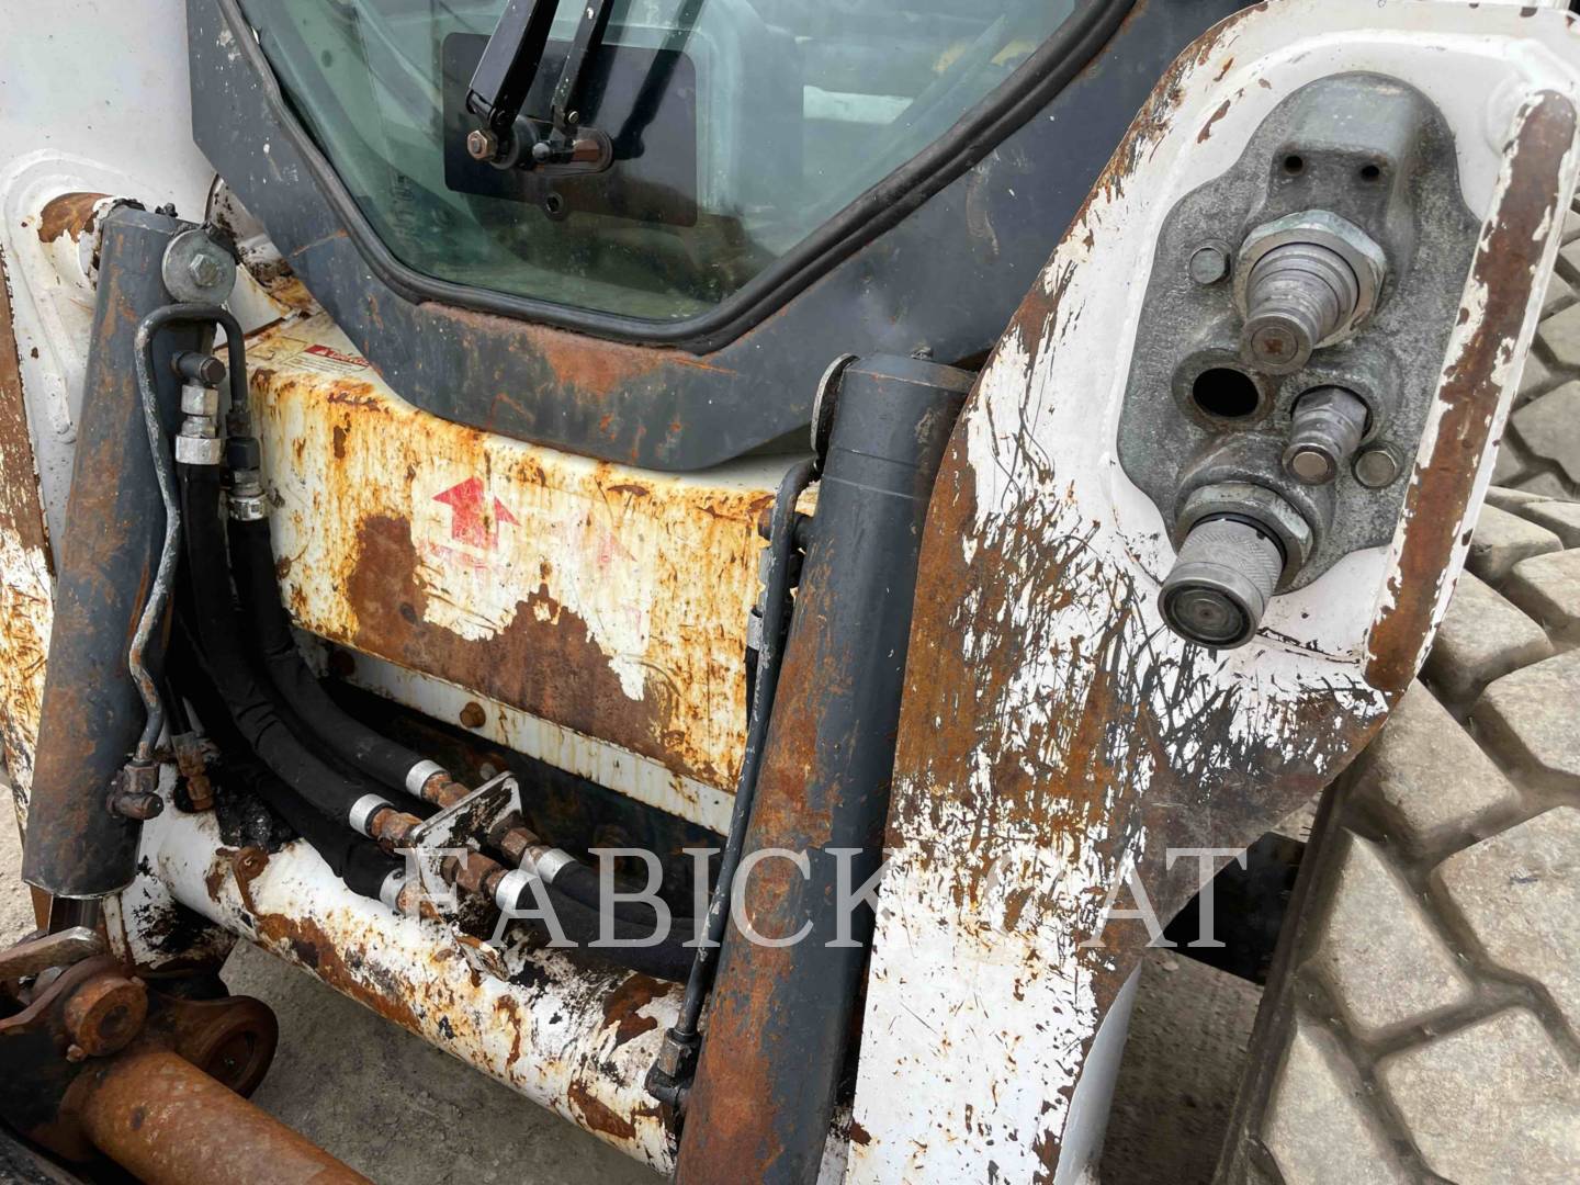
[[[1187,641],[1243,646],[1262,624],[1283,566],[1272,531],[1239,518],[1201,521],[1163,581],[1163,619]]]

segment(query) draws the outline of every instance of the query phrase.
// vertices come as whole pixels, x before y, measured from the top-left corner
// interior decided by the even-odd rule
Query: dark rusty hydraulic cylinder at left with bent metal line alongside
[[[144,725],[126,648],[164,534],[134,338],[142,318],[169,303],[160,261],[169,240],[190,228],[123,205],[101,229],[98,307],[22,852],[22,878],[60,897],[101,897],[136,872],[139,823],[106,806]],[[158,420],[167,433],[180,422],[171,356],[196,349],[199,332],[171,329],[155,344]],[[156,668],[160,657],[160,638],[150,638],[147,662]]]

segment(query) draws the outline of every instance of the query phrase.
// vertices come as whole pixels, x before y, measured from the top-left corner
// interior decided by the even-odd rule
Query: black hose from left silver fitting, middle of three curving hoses
[[[246,744],[286,785],[330,818],[348,822],[357,799],[384,796],[371,782],[348,777],[313,754],[275,713],[242,648],[242,623],[231,594],[220,525],[220,469],[177,465],[186,520],[186,607],[198,645],[231,719]]]

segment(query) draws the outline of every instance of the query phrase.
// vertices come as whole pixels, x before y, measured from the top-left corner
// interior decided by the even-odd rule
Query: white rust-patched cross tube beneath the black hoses
[[[660,1172],[673,1166],[672,1134],[643,1076],[679,1013],[679,984],[542,950],[520,932],[490,948],[446,920],[395,915],[351,893],[302,842],[270,853],[243,883],[212,814],[166,811],[145,828],[142,852],[150,875],[202,918],[626,1155]],[[161,923],[145,915],[137,924]],[[498,973],[477,970],[469,956]]]

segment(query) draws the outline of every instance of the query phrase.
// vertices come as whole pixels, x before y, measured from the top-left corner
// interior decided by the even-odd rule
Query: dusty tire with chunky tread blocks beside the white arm
[[[1577,643],[1580,502],[1493,488],[1422,681],[1318,811],[1220,1182],[1580,1180]]]

